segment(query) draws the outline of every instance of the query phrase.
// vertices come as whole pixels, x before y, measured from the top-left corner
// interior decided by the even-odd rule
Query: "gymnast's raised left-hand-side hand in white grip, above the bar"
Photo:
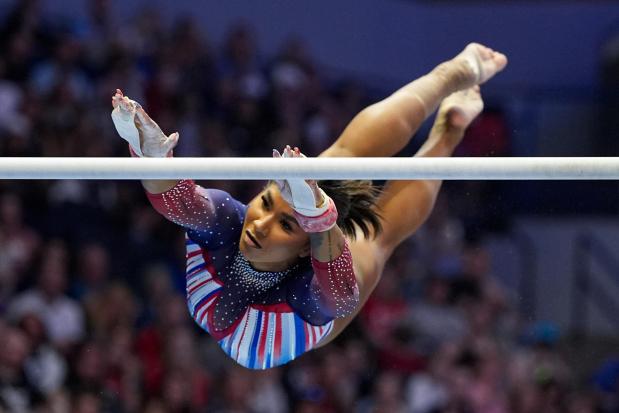
[[[112,96],[112,121],[121,138],[129,142],[139,157],[165,158],[172,156],[178,143],[178,132],[166,136],[142,106],[124,96],[120,89]]]

